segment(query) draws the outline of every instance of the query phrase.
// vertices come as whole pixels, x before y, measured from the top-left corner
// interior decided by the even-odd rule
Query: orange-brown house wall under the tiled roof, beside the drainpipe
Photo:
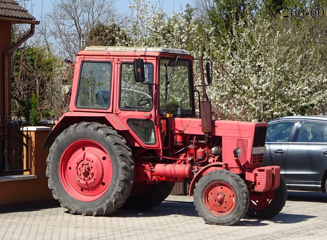
[[[0,117],[4,119],[5,116],[5,82],[4,82],[4,54],[11,47],[11,23],[0,20]],[[8,79],[10,80],[10,63],[11,57],[8,56]],[[8,84],[10,93],[10,84]],[[9,101],[10,102],[10,101]]]

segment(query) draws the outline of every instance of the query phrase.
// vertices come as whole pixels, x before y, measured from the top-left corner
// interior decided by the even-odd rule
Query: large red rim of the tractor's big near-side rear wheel
[[[66,192],[79,201],[94,201],[105,194],[112,180],[107,151],[92,140],[77,140],[63,152],[59,178]]]

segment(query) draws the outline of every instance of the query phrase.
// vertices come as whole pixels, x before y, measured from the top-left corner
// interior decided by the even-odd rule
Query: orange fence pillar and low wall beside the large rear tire
[[[49,128],[50,129],[50,128]],[[29,165],[31,175],[36,179],[0,182],[0,204],[22,203],[40,200],[53,200],[52,192],[48,188],[48,178],[45,176],[46,158],[49,151],[41,149],[49,130],[30,131]]]

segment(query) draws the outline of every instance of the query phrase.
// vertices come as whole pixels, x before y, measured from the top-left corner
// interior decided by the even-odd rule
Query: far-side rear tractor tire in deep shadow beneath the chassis
[[[157,207],[173,190],[175,182],[160,182],[158,184],[134,183],[123,209],[149,210]]]

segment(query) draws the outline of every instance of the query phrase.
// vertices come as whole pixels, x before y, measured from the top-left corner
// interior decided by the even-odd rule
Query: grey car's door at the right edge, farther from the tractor
[[[327,124],[303,121],[297,131],[287,151],[286,184],[320,188],[327,168]]]

